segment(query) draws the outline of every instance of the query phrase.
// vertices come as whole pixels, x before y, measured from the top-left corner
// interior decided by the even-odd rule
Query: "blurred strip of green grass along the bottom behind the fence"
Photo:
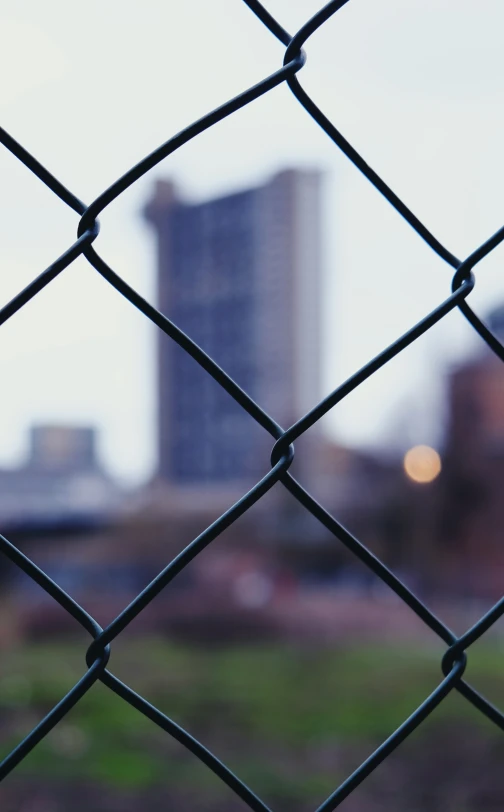
[[[338,757],[342,749],[350,753],[350,761],[361,753],[365,757],[436,687],[442,679],[441,654],[441,647],[390,644],[338,650],[278,645],[202,649],[159,638],[130,638],[113,645],[109,668],[260,793],[322,799],[352,767]],[[471,651],[466,672],[502,706],[503,668],[504,648],[485,643]],[[2,754],[84,670],[83,648],[77,643],[32,644],[4,652]],[[483,739],[502,735],[454,692],[413,738],[420,742],[446,724],[462,724]],[[169,782],[221,792],[206,768],[101,684],[93,686],[18,771],[121,787]]]

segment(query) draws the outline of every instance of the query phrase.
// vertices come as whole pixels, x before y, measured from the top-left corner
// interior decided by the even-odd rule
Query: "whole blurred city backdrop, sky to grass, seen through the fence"
[[[281,61],[239,2],[88,6],[78,20],[61,0],[0,15],[4,126],[86,202]],[[292,31],[317,7],[271,3]],[[352,1],[310,41],[302,77],[460,256],[502,225],[504,11],[488,0],[484,12]],[[71,243],[76,218],[10,154],[0,162],[6,302]],[[450,269],[286,87],[186,145],[101,221],[111,266],[285,428],[450,290]],[[471,304],[504,341],[502,250],[478,266]],[[105,625],[267,472],[272,440],[82,258],[0,339],[0,532]],[[457,633],[501,596],[504,372],[460,313],[310,429],[293,471]],[[5,559],[0,645],[4,755],[82,675],[88,639]],[[272,809],[302,812],[435,688],[442,653],[277,485],[118,637],[111,668]],[[503,664],[496,628],[468,673],[497,705]],[[503,754],[497,728],[450,695],[344,807],[494,812]],[[0,801],[244,808],[100,684]]]

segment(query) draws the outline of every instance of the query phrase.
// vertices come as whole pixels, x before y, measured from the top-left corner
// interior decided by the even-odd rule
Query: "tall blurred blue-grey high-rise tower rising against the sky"
[[[280,425],[320,397],[321,175],[286,170],[262,186],[191,203],[159,181],[145,209],[158,244],[157,305]],[[159,331],[161,479],[250,481],[273,440]]]

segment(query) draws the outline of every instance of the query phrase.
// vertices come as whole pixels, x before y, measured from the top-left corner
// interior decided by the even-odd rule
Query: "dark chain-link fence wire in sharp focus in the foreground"
[[[0,550],[19,569],[39,584],[57,603],[60,604],[90,634],[92,642],[86,653],[87,670],[76,685],[65,697],[43,718],[39,724],[12,750],[0,763],[0,779],[5,778],[27,754],[49,733],[50,730],[70,711],[70,709],[100,681],[111,691],[122,697],[127,703],[143,713],[156,725],[183,744],[191,753],[206,764],[238,795],[250,809],[256,812],[270,812],[268,806],[249,789],[233,772],[226,767],[203,744],[193,738],[187,731],[177,725],[158,708],[151,705],[144,697],[135,693],[121,682],[108,669],[111,644],[128,624],[150,604],[156,595],[164,589],[175,576],[181,572],[192,559],[207,547],[219,534],[233,524],[249,508],[277,483],[281,483],[292,496],[303,505],[318,521],[326,527],[348,550],[359,558],[378,578],[416,613],[416,615],[444,641],[447,648],[442,658],[443,679],[425,701],[384,741],[355,772],[350,775],[317,809],[317,812],[329,812],[337,806],[383,761],[395,748],[415,730],[424,719],[452,691],[456,690],[488,719],[504,730],[504,715],[484,696],[478,693],[463,678],[467,664],[466,652],[504,612],[504,599],[501,599],[480,620],[461,637],[457,637],[435,614],[416,597],[402,581],[391,572],[379,558],[346,530],[302,485],[294,479],[289,467],[294,458],[294,441],[313,426],[324,414],[338,404],[350,392],[356,389],[367,378],[373,375],[388,361],[412,344],[423,333],[440,321],[447,313],[458,308],[479,333],[481,338],[504,361],[504,347],[488,330],[467,302],[475,279],[473,270],[478,262],[487,256],[504,239],[504,227],[492,235],[486,242],[476,248],[464,260],[452,254],[413,214],[406,204],[397,197],[390,187],[365,162],[349,144],[335,125],[329,121],[313,99],[306,93],[298,80],[306,56],[303,46],[309,37],[349,0],[333,0],[327,3],[302,28],[291,37],[290,34],[271,16],[257,0],[244,0],[256,18],[273,34],[280,43],[286,46],[282,67],[267,76],[253,87],[247,88],[238,96],[224,102],[220,107],[193,122],[177,135],[170,138],[136,166],[126,172],[115,183],[109,186],[89,206],[82,203],[54,175],[52,175],[36,158],[12,138],[5,130],[0,129],[1,143],[33,172],[63,203],[73,209],[79,216],[77,239],[48,268],[37,276],[24,290],[20,291],[8,304],[0,309],[0,324],[11,318],[30,299],[37,295],[56,276],[65,270],[77,257],[84,256],[90,265],[109,282],[131,304],[140,310],[151,322],[163,330],[173,341],[182,347],[200,366],[217,381],[218,384],[262,426],[274,440],[271,453],[271,468],[254,487],[223,513],[213,524],[195,538],[179,555],[177,555],[162,572],[127,606],[105,629],[68,595],[57,583],[39,569],[33,561],[6,538],[0,536]],[[416,231],[420,239],[426,242],[455,273],[451,294],[431,313],[415,324],[404,335],[400,336],[385,350],[371,359],[365,366],[355,372],[341,386],[331,392],[315,408],[300,420],[284,430],[270,417],[259,404],[244,392],[232,378],[221,369],[191,338],[182,332],[165,315],[147,302],[127,282],[124,281],[97,253],[94,243],[99,234],[98,216],[129,186],[145,175],[175,150],[195,138],[217,122],[232,115],[274,87],[285,83],[298,102],[311,118],[326,132],[334,144],[346,155],[354,166],[372,183],[394,209]]]

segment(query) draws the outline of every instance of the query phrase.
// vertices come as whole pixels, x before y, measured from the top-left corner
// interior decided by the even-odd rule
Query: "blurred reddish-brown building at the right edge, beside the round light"
[[[487,323],[504,341],[504,307]],[[504,585],[504,366],[481,349],[448,378],[437,549],[443,580],[468,595],[500,597]]]

